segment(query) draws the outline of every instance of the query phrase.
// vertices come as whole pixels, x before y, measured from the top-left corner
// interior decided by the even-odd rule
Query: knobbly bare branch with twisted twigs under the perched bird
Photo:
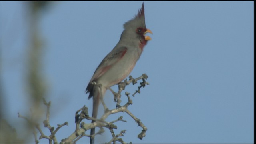
[[[100,119],[96,119],[96,118],[92,118],[89,116],[88,114],[88,108],[86,106],[83,106],[82,108],[80,108],[79,110],[76,111],[75,113],[75,124],[76,124],[76,128],[75,131],[70,134],[70,136],[68,136],[68,138],[62,139],[61,140],[61,144],[75,144],[78,140],[80,140],[82,137],[86,136],[86,137],[90,137],[90,135],[86,134],[86,131],[92,129],[92,128],[100,128],[100,130],[98,132],[96,132],[94,135],[92,135],[92,137],[98,135],[98,134],[102,134],[104,132],[104,128],[108,128],[110,130],[110,133],[112,135],[112,139],[108,142],[108,143],[116,143],[116,142],[120,142],[120,143],[124,143],[124,141],[122,140],[122,138],[120,138],[121,136],[124,136],[126,130],[121,130],[119,134],[115,134],[114,129],[117,129],[118,127],[114,124],[115,122],[118,121],[122,121],[122,122],[127,122],[126,120],[123,120],[123,117],[120,116],[118,119],[113,120],[111,122],[107,122],[106,118],[108,118],[108,116],[110,114],[116,114],[118,112],[125,112],[126,114],[128,114],[129,116],[131,116],[135,122],[138,124],[138,126],[140,126],[142,128],[142,132],[140,132],[140,134],[138,134],[138,138],[142,139],[143,137],[146,136],[146,131],[147,128],[146,126],[144,126],[144,124],[141,122],[141,120],[139,118],[137,118],[136,116],[134,116],[134,114],[132,114],[132,112],[130,112],[128,110],[128,106],[130,106],[132,104],[132,99],[130,98],[130,93],[125,92],[125,95],[127,96],[128,102],[126,102],[124,105],[120,105],[121,103],[121,92],[125,89],[125,87],[127,85],[129,85],[130,83],[132,84],[136,84],[138,82],[138,80],[142,79],[142,82],[140,82],[140,86],[138,87],[138,90],[136,90],[136,92],[133,94],[133,96],[136,93],[140,93],[140,89],[145,87],[146,85],[148,85],[148,82],[146,82],[146,79],[148,78],[148,76],[146,74],[142,74],[142,76],[138,77],[138,78],[132,78],[132,76],[129,76],[129,80],[124,80],[124,82],[120,82],[118,84],[118,92],[114,92],[111,88],[108,88],[114,95],[114,101],[117,103],[116,104],[116,108],[109,110],[106,106],[106,104],[104,103],[103,98],[101,97],[101,103],[104,106],[104,114],[101,116]],[[102,95],[102,88],[101,88],[101,84],[96,84],[96,82],[93,82],[94,85],[99,86],[100,90],[101,90],[101,95]],[[46,110],[46,120],[43,121],[44,123],[44,127],[48,128],[50,130],[50,136],[46,136],[39,124],[37,123],[33,123],[30,119],[21,116],[20,114],[18,114],[18,116],[20,118],[24,118],[25,120],[27,120],[28,122],[32,122],[32,124],[34,124],[34,127],[40,132],[40,137],[39,139],[42,138],[46,138],[49,140],[49,144],[51,144],[52,142],[58,143],[55,134],[60,130],[60,128],[62,128],[63,126],[68,125],[68,122],[64,122],[63,124],[58,124],[57,128],[54,130],[54,127],[50,126],[50,105],[51,102],[46,102],[46,100],[43,99],[44,105],[47,107]],[[86,124],[87,120],[94,120],[95,122],[90,123],[88,122]],[[35,142],[36,144],[39,142],[37,140],[37,135],[36,135],[36,131],[34,130],[34,137],[35,137]]]

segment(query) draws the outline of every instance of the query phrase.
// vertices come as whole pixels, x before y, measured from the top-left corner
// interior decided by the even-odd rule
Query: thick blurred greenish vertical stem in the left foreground
[[[28,90],[33,104],[38,107],[46,93],[46,86],[42,76],[42,38],[40,37],[40,12],[48,4],[43,1],[28,2],[30,8],[30,40],[28,50]]]

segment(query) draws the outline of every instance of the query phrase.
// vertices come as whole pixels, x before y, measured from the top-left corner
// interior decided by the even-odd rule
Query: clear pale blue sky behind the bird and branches
[[[74,131],[76,110],[83,105],[91,110],[85,87],[118,42],[124,22],[133,18],[141,4],[54,2],[40,15],[42,75],[48,88],[46,99],[52,101],[51,124],[69,123],[58,132],[58,141]],[[25,5],[1,1],[0,7],[1,100],[4,118],[17,132],[22,132],[23,121],[17,113],[29,110]],[[252,143],[253,2],[146,1],[144,6],[146,26],[153,35],[131,75],[146,73],[150,85],[132,97],[129,110],[148,131],[139,140],[141,128],[120,113],[108,119],[124,116],[128,121],[118,122],[116,133],[126,129],[123,140],[133,143]],[[126,91],[133,93],[135,88]],[[105,101],[114,108],[110,92]],[[110,136],[106,130],[96,142],[108,142]],[[33,138],[28,142],[33,143]],[[78,141],[85,142],[89,138]]]

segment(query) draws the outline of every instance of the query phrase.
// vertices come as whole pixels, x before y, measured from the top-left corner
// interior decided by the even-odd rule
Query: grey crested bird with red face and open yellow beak
[[[104,96],[108,88],[120,83],[132,72],[144,46],[151,40],[150,36],[145,35],[146,33],[153,33],[146,28],[144,2],[138,10],[138,14],[124,23],[123,27],[124,30],[119,42],[96,68],[86,87],[86,94],[89,93],[88,99],[92,98],[93,101],[92,117],[95,119],[98,114],[100,98]],[[92,120],[93,122],[95,121]],[[95,128],[91,129],[90,134],[90,144],[94,144],[94,136],[92,135],[95,134]]]

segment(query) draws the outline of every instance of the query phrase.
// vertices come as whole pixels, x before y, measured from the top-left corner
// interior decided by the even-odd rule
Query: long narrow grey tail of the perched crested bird
[[[106,89],[102,88],[102,93],[101,93],[100,87],[94,86],[94,88],[91,92],[92,92],[92,98],[93,98],[92,117],[97,118],[98,108],[99,108],[99,104],[100,104],[100,97],[101,97],[101,94],[102,94],[102,96],[104,96]],[[92,123],[93,122],[95,122],[95,120],[92,120]],[[90,136],[90,144],[94,144],[94,137],[92,137],[92,135],[94,135],[94,134],[95,134],[95,128],[92,128],[91,136]]]

